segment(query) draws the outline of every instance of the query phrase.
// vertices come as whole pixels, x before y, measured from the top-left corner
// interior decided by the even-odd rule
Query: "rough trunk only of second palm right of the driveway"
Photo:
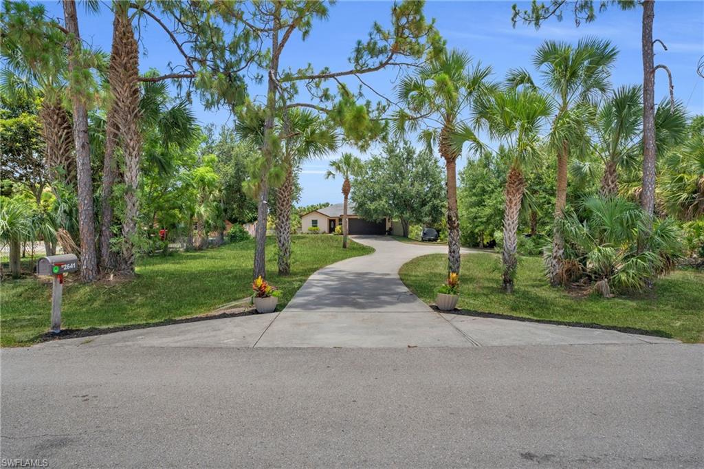
[[[503,211],[503,289],[507,293],[513,293],[513,279],[516,274],[518,260],[517,233],[518,217],[521,211],[523,199],[523,189],[525,180],[522,173],[517,168],[511,168],[508,172],[505,187],[505,208]]]

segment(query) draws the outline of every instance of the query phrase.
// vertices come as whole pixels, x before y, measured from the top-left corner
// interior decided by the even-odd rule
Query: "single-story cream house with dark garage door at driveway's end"
[[[335,227],[342,225],[343,205],[332,204],[304,214],[301,216],[301,232],[307,233],[310,227],[318,227],[321,233],[334,232]],[[349,235],[386,235],[386,230],[391,227],[389,218],[381,221],[360,218],[352,203],[347,206],[347,220]]]

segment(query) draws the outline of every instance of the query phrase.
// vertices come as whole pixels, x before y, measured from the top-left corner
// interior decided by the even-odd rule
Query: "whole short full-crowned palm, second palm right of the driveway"
[[[532,88],[505,89],[477,100],[476,118],[495,139],[508,144],[510,156],[503,212],[503,288],[513,292],[517,268],[518,220],[525,190],[523,170],[539,159],[538,132],[553,113],[548,98]]]

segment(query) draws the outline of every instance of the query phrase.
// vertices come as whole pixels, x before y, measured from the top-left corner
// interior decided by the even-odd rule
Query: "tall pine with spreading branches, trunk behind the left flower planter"
[[[387,67],[403,67],[405,61],[422,57],[428,49],[436,49],[439,37],[432,23],[425,20],[422,1],[404,0],[391,9],[391,25],[388,28],[379,23],[372,26],[367,42],[359,41],[351,56],[351,68],[333,71],[328,68],[315,71],[310,64],[298,68],[281,70],[280,58],[294,32],[306,39],[313,29],[314,20],[327,18],[327,5],[322,1],[296,0],[275,1],[270,4],[256,4],[239,15],[227,11],[227,20],[234,18],[250,33],[251,37],[265,44],[263,54],[257,54],[255,62],[267,77],[265,98],[264,139],[262,146],[263,164],[258,182],[258,223],[256,229],[256,249],[254,256],[254,277],[265,276],[265,235],[268,217],[269,173],[275,166],[276,152],[280,142],[275,133],[275,118],[283,115],[283,109],[313,107],[325,112],[344,130],[346,138],[356,142],[369,143],[370,130],[379,130],[381,125],[368,117],[368,105],[356,103],[356,98],[341,80],[361,76]],[[334,80],[338,93],[331,92],[325,83]],[[299,83],[305,83],[311,97],[322,105],[307,101],[294,102]],[[334,105],[325,107],[326,104]]]

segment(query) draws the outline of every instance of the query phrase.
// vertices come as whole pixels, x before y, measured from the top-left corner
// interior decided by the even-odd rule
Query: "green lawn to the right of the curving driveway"
[[[458,308],[537,320],[634,328],[684,342],[704,342],[704,273],[677,270],[658,280],[653,292],[605,299],[576,297],[549,287],[541,258],[520,259],[515,293],[501,290],[500,258],[465,254]],[[434,303],[434,289],[446,275],[447,258],[431,254],[401,268],[401,280],[421,299]]]

